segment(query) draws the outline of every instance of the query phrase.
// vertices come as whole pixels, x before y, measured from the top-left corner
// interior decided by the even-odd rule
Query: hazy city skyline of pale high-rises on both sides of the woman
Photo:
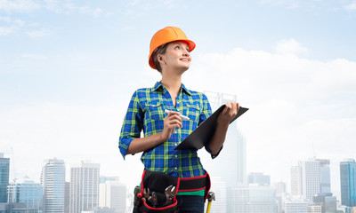
[[[4,157],[1,153],[0,156]],[[354,191],[355,178],[353,167],[355,160],[346,159],[339,164],[342,168],[339,176],[343,180],[342,183],[344,183],[344,186],[341,185],[343,193],[350,194],[350,190],[352,192]],[[350,164],[352,164],[352,166],[350,166]],[[328,165],[328,159],[308,159],[307,161],[298,162],[297,167],[299,167],[300,171],[296,178],[301,178],[299,182],[303,183],[303,185],[299,185],[301,190],[297,191],[301,193],[295,194],[295,196],[293,194],[289,195],[285,183],[271,183],[270,176],[262,172],[249,173],[247,175],[248,181],[246,184],[239,183],[237,179],[236,183],[239,185],[235,186],[231,186],[231,183],[228,181],[223,181],[222,177],[212,177],[212,181],[215,183],[212,185],[212,191],[216,196],[213,209],[219,212],[246,213],[275,212],[275,210],[279,209],[280,212],[280,208],[283,208],[283,205],[277,204],[276,201],[278,201],[278,203],[285,203],[286,210],[290,205],[292,205],[290,206],[292,209],[295,209],[296,206],[300,206],[298,208],[300,208],[300,210],[303,209],[303,211],[305,210],[305,212],[306,209],[308,209],[308,212],[319,212],[320,208],[323,209],[323,211],[327,209],[330,212],[336,212],[336,209],[346,208],[347,206],[351,210],[351,207],[355,205],[354,194],[351,193],[351,197],[344,196],[340,201],[336,199],[335,194],[333,195],[333,193],[329,192],[330,174]],[[106,207],[113,208],[111,209],[113,211],[116,209],[116,212],[125,212],[125,197],[132,202],[131,199],[133,196],[130,193],[131,191],[126,191],[126,185],[119,181],[119,177],[101,176],[101,164],[88,161],[82,161],[72,165],[70,168],[70,182],[68,183],[70,185],[70,193],[65,193],[64,191],[69,190],[69,187],[67,189],[67,186],[64,185],[65,167],[64,161],[61,159],[44,160],[41,185],[36,184],[35,181],[30,180],[28,177],[24,177],[20,181],[8,185],[7,193],[10,199],[9,202],[16,202],[19,205],[21,204],[19,202],[25,202],[24,207],[29,205],[28,208],[38,209],[40,208],[38,204],[41,203],[40,201],[42,200],[42,190],[44,193],[43,203],[44,207],[46,207],[46,209],[44,209],[45,212],[57,212],[60,210],[58,208],[63,209],[66,205],[69,205],[69,203],[64,202],[64,200],[67,199],[59,200],[59,198],[64,197],[64,194],[69,196],[69,206],[71,208],[72,206],[74,207],[72,201],[76,201],[76,203],[77,201],[83,201],[82,204],[78,202],[75,209],[79,208],[79,206],[89,207],[88,209],[99,208],[98,210]],[[292,168],[295,168],[295,166]],[[67,185],[67,183],[65,184]],[[81,189],[81,185],[85,185],[84,191]],[[53,189],[57,190],[57,192],[55,192],[55,190],[53,191]],[[82,193],[77,193],[77,190]],[[50,194],[50,196],[45,196],[45,194]],[[53,195],[56,197],[54,200]],[[229,198],[230,196],[231,198]],[[31,200],[28,200],[28,198]],[[57,204],[53,205],[54,202]],[[85,204],[85,202],[87,203]],[[341,206],[342,202],[344,207]],[[60,203],[62,204],[59,205]],[[336,205],[336,203],[338,204]],[[2,205],[4,206],[4,203],[2,203]],[[52,205],[53,207],[55,206],[55,209],[51,207]],[[132,208],[132,206],[127,207],[127,210]],[[72,209],[70,212],[72,212]],[[287,212],[295,211],[286,211],[286,213]]]

